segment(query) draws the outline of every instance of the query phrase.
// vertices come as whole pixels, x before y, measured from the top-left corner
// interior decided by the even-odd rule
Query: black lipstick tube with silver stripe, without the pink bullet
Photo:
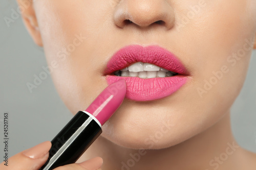
[[[75,163],[101,133],[101,124],[93,115],[86,111],[77,112],[52,139],[49,158],[39,170]]]

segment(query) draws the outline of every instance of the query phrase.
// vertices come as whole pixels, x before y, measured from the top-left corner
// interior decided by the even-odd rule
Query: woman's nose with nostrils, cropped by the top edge
[[[134,23],[141,28],[158,24],[169,30],[175,14],[166,0],[121,0],[114,11],[114,22],[120,28]]]

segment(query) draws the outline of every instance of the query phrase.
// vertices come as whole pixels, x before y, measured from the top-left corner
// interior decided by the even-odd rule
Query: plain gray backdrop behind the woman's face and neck
[[[44,52],[29,36],[19,15],[7,27],[4,17],[17,11],[16,1],[0,0],[0,119],[9,112],[9,156],[42,141],[51,140],[72,117],[60,100],[50,75],[33,92],[33,82],[42,66],[47,66]],[[232,130],[243,148],[256,153],[256,52],[232,112]],[[1,123],[1,122],[0,122]],[[3,153],[3,124],[0,132],[0,157]]]

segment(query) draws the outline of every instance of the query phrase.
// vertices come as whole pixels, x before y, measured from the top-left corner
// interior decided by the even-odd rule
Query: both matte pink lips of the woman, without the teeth
[[[141,79],[138,77],[112,76],[114,71],[125,68],[135,62],[152,63],[179,75],[166,78]],[[177,57],[164,48],[151,45],[130,45],[121,48],[110,59],[105,70],[108,84],[124,79],[126,81],[126,98],[134,101],[151,101],[164,98],[178,89],[187,81],[187,70]]]

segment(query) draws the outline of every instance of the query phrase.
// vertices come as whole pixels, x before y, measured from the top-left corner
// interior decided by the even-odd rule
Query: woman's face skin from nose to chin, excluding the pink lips
[[[103,126],[103,137],[136,149],[170,147],[216,124],[242,88],[256,33],[253,0],[38,0],[33,7],[39,31],[30,31],[73,114],[108,85],[106,65],[124,46],[159,45],[185,66],[179,90],[125,99]]]

